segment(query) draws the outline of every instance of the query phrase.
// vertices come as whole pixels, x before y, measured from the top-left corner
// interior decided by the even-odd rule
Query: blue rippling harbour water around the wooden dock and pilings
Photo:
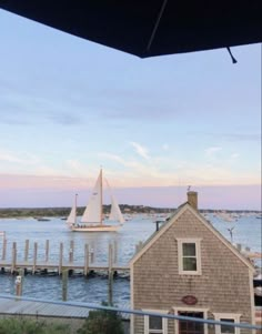
[[[228,229],[233,229],[233,243],[250,247],[252,252],[261,252],[261,220],[253,216],[241,216],[238,221],[225,222],[212,214],[208,217],[216,230],[229,241],[231,235]],[[64,260],[69,257],[70,242],[74,241],[74,261],[83,264],[84,244],[94,250],[94,264],[108,263],[109,243],[118,244],[118,264],[127,265],[133,256],[135,245],[145,241],[155,230],[153,217],[143,215],[128,221],[118,233],[79,233],[68,230],[64,221],[54,217],[50,221],[0,220],[0,231],[6,231],[8,240],[7,255],[11,256],[12,242],[17,242],[18,262],[23,260],[24,242],[30,240],[29,259],[32,257],[33,242],[38,242],[38,261],[44,261],[46,240],[50,242],[50,261],[58,263],[59,244],[64,244]],[[0,241],[0,250],[2,242]],[[1,254],[1,253],[0,253]],[[14,294],[16,277],[10,274],[0,275],[0,293]],[[27,275],[23,281],[23,295],[46,300],[62,298],[62,281],[60,276]],[[95,276],[85,279],[72,276],[68,281],[68,300],[100,304],[108,301],[108,279]],[[129,307],[130,282],[128,277],[118,277],[113,282],[113,304]]]

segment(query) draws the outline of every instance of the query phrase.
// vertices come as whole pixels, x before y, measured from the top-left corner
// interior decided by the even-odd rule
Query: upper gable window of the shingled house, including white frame
[[[179,274],[200,275],[200,240],[179,239]]]

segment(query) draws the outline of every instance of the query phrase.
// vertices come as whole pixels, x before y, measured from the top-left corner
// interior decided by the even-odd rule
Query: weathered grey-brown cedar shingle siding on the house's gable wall
[[[201,239],[202,275],[179,275],[177,237]],[[134,308],[187,307],[181,298],[190,294],[194,307],[252,322],[250,269],[190,210],[134,261],[132,280]]]

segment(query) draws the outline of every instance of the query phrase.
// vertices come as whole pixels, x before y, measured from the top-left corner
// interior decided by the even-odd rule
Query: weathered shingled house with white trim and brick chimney
[[[130,262],[131,307],[254,324],[253,265],[198,212],[196,192]],[[194,323],[195,324],[195,323]],[[230,326],[133,316],[132,334],[239,334]]]

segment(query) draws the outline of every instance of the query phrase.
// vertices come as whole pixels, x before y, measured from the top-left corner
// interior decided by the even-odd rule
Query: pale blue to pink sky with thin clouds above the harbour
[[[0,10],[0,208],[261,209],[261,44],[140,59]]]

